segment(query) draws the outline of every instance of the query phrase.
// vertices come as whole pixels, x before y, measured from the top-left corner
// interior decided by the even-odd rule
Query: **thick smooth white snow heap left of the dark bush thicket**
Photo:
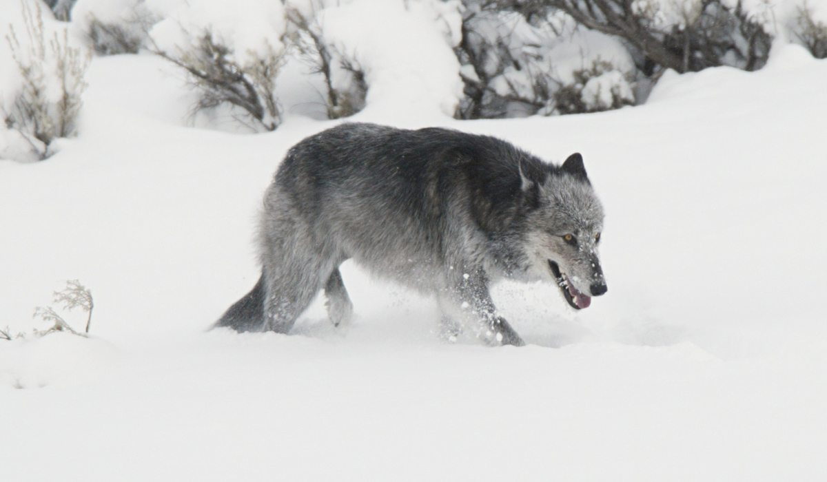
[[[412,109],[418,117],[452,116],[462,95],[451,43],[460,35],[459,4],[451,2],[440,12],[423,2],[409,2],[411,8],[405,3],[361,0],[329,7],[319,24],[325,40],[365,73],[367,110],[399,121]]]

